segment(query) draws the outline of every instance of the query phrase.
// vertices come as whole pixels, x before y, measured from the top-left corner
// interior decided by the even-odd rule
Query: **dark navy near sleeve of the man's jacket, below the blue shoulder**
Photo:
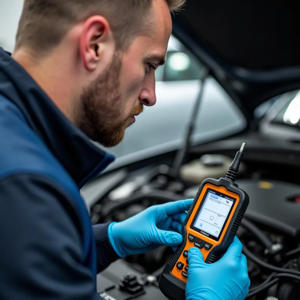
[[[0,299],[101,299],[68,197],[39,175],[0,181]]]

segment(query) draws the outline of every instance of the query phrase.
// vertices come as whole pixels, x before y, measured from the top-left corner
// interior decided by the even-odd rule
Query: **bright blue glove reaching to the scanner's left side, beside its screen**
[[[181,244],[181,225],[192,202],[193,199],[187,199],[154,205],[127,220],[110,223],[108,237],[113,249],[125,257],[160,245]]]

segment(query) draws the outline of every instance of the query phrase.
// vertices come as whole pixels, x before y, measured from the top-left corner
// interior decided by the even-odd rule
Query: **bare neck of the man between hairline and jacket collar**
[[[35,58],[25,49],[19,49],[12,54],[12,58],[29,73],[58,109],[74,122],[73,89],[76,83],[72,74],[75,74],[75,70],[71,70],[68,65],[72,58],[66,56],[51,53],[44,58]]]

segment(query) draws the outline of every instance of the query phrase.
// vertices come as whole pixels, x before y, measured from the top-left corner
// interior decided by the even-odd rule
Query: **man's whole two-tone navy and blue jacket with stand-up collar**
[[[119,257],[79,189],[114,160],[0,48],[0,299],[101,299]]]

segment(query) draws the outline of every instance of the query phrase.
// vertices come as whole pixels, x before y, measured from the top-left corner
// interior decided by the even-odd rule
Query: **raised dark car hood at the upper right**
[[[245,114],[300,88],[297,1],[187,0],[173,33],[211,70]]]

